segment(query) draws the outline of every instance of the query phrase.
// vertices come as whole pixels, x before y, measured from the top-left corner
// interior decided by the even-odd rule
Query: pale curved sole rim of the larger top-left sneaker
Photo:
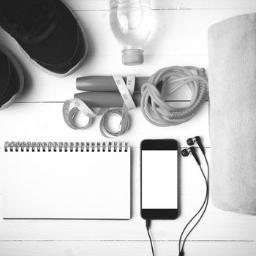
[[[20,49],[22,50],[22,52],[25,54],[25,56],[29,59],[29,61],[34,64],[34,66],[36,66],[38,69],[42,70],[43,72],[47,73],[48,75],[53,75],[57,78],[66,78],[67,76],[71,75],[73,72],[75,72],[80,66],[82,66],[83,62],[86,60],[86,56],[87,56],[87,53],[88,53],[88,40],[87,40],[87,37],[86,37],[86,33],[85,31],[83,31],[83,27],[81,26],[81,23],[80,23],[80,20],[74,15],[73,11],[71,10],[71,8],[62,0],[60,0],[66,7],[67,9],[69,10],[69,12],[72,13],[73,17],[75,18],[75,20],[77,21],[78,23],[78,26],[80,27],[80,30],[82,31],[82,34],[83,34],[83,39],[85,41],[85,45],[86,45],[86,52],[83,56],[83,59],[81,59],[78,64],[76,64],[74,67],[72,67],[72,69],[70,69],[67,73],[64,73],[64,74],[59,74],[59,73],[56,73],[56,72],[51,72],[50,70],[48,69],[45,69],[44,67],[42,67],[41,65],[39,65],[37,63],[37,61],[34,61],[34,59],[31,59],[29,54],[26,53],[25,50],[23,50],[23,48],[20,46]]]

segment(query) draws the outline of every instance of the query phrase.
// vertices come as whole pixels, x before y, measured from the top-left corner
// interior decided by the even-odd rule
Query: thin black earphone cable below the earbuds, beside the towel
[[[178,241],[178,251],[179,251],[179,254],[180,254],[180,255],[182,255],[182,253],[183,253],[184,244],[185,244],[185,242],[187,241],[188,236],[190,235],[190,233],[192,233],[192,230],[194,230],[194,228],[195,228],[195,227],[197,226],[197,224],[200,222],[200,220],[202,219],[203,215],[205,214],[206,208],[207,208],[207,206],[208,206],[208,199],[209,199],[209,187],[208,187],[209,165],[208,165],[208,160],[207,160],[205,154],[204,154],[204,158],[205,158],[205,160],[206,160],[206,165],[207,165],[207,178],[206,178],[205,174],[203,173],[202,167],[201,167],[200,165],[199,165],[199,167],[200,167],[200,171],[201,171],[201,173],[202,173],[202,175],[203,175],[203,178],[204,178],[204,180],[205,180],[205,182],[206,182],[206,197],[205,197],[205,199],[203,200],[203,204],[202,204],[202,206],[200,207],[199,211],[197,211],[197,213],[194,215],[194,217],[192,217],[192,219],[189,220],[189,222],[188,222],[187,225],[184,227],[184,229],[183,229],[183,231],[182,231],[182,233],[181,233],[181,236],[180,236],[179,241]],[[205,207],[204,207],[204,206],[205,206]],[[203,207],[204,207],[204,209],[203,209]],[[202,212],[202,214],[200,215],[200,218],[197,220],[197,222],[195,222],[195,225],[189,230],[189,233],[187,233],[187,236],[185,236],[184,241],[183,241],[183,244],[182,244],[182,246],[181,246],[181,239],[182,239],[182,236],[183,236],[185,230],[187,230],[187,227],[188,227],[189,224],[195,219],[195,217],[197,217],[197,215],[200,214],[200,212],[202,211],[202,209],[203,209],[203,212]]]

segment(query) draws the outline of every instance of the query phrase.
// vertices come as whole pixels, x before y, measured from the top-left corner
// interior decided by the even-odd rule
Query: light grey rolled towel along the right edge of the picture
[[[256,14],[208,30],[211,197],[256,214]]]

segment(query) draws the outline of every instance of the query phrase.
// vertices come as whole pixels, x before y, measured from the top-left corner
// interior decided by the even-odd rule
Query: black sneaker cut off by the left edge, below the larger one
[[[0,45],[0,110],[15,102],[23,90],[24,75],[18,61]]]

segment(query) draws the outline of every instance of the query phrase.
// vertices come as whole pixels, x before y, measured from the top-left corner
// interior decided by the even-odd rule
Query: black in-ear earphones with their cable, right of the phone
[[[206,160],[206,165],[207,165],[207,177],[205,176],[205,174],[203,173],[203,169],[201,167],[201,163],[200,163],[200,159],[197,156],[196,150],[194,145],[197,144],[200,148],[200,151],[203,154],[203,157]],[[202,219],[203,214],[206,212],[206,208],[208,206],[208,199],[209,199],[209,185],[208,185],[208,176],[209,176],[209,165],[208,165],[208,160],[206,158],[206,151],[205,148],[203,147],[203,143],[201,142],[201,139],[199,136],[195,136],[194,138],[188,138],[187,139],[187,145],[189,146],[189,148],[184,148],[181,151],[181,155],[183,157],[188,157],[189,154],[192,154],[192,156],[195,158],[195,161],[197,162],[197,165],[199,165],[200,167],[200,171],[203,175],[204,180],[206,181],[206,196],[205,199],[203,200],[203,204],[200,207],[200,209],[197,211],[197,213],[194,215],[194,217],[192,217],[192,219],[189,220],[189,222],[187,222],[187,225],[184,227],[184,229],[182,230],[181,236],[179,238],[178,241],[178,255],[179,256],[184,256],[184,244],[187,241],[187,238],[189,236],[189,234],[192,232],[192,230],[194,230],[194,228],[197,226],[198,222],[200,222],[200,219]],[[203,210],[203,211],[202,211]],[[202,213],[201,213],[202,212]],[[201,214],[200,214],[201,213]],[[195,222],[195,224],[189,229],[189,232],[187,233],[187,236],[185,236],[184,240],[183,240],[183,244],[181,244],[181,240],[182,237],[184,235],[184,232],[187,230],[187,227],[189,227],[190,223],[192,223],[192,221],[200,214],[199,219],[197,219],[197,222]]]

